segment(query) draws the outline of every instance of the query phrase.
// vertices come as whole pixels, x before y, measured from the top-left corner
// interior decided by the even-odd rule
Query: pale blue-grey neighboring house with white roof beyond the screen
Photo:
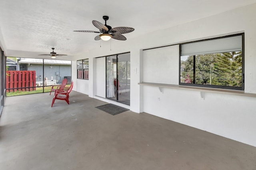
[[[42,82],[47,78],[48,81],[53,80],[56,84],[60,84],[66,78],[68,83],[71,83],[71,61],[68,60],[44,59],[44,77],[43,59],[21,58],[18,61],[18,70],[35,70],[37,82]]]

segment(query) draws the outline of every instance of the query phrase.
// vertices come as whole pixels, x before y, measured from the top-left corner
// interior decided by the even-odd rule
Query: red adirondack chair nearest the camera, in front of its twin
[[[54,98],[52,99],[52,106],[56,99],[64,100],[69,104],[69,93],[72,91],[73,84],[74,84],[74,82],[72,81],[70,87],[68,87],[68,88],[64,87],[63,89],[57,89],[55,91]]]

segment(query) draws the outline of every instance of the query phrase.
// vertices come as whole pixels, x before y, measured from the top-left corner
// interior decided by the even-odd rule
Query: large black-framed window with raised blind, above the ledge
[[[180,44],[180,85],[244,90],[244,34]]]

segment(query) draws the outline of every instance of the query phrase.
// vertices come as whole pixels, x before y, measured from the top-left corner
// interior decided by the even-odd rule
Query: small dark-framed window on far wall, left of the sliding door
[[[77,60],[77,78],[89,79],[89,59]]]

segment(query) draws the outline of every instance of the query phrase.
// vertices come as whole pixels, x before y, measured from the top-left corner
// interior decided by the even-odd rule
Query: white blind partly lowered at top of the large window
[[[181,45],[181,55],[222,53],[242,50],[242,35]]]

